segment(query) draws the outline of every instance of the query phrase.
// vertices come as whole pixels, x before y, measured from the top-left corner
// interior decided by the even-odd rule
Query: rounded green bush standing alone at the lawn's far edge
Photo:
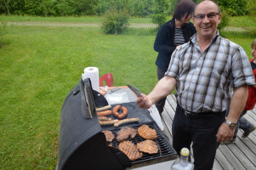
[[[105,34],[121,34],[128,28],[129,14],[126,8],[111,8],[104,14],[102,30]]]

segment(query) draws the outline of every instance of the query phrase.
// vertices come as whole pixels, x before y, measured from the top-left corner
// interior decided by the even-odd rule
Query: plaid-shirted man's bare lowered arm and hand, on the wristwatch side
[[[234,88],[230,101],[230,112],[226,117],[226,120],[230,122],[237,122],[241,115],[248,96],[248,87],[242,86],[240,88]],[[233,139],[235,128],[231,129],[225,122],[219,127],[219,131],[216,134],[217,142],[230,141]]]

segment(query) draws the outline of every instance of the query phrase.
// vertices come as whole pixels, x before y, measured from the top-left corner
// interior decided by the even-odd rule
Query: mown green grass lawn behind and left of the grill
[[[155,30],[104,35],[100,27],[9,26],[8,32],[10,43],[0,48],[0,169],[55,168],[61,106],[85,67],[98,67],[100,76],[111,72],[114,85],[130,83],[145,94],[157,82]],[[253,37],[225,36],[251,56]]]

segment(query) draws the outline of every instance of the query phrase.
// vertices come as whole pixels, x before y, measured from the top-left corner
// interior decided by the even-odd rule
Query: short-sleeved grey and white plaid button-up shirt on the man
[[[186,111],[225,111],[231,88],[255,84],[245,51],[219,32],[202,53],[191,41],[174,51],[166,75],[177,80],[176,97]]]

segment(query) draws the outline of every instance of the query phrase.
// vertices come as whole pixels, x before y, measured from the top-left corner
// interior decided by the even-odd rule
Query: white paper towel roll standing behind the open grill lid
[[[82,74],[82,80],[89,78],[92,82],[92,88],[99,92],[99,69],[97,67],[86,67],[84,69],[84,74]]]

